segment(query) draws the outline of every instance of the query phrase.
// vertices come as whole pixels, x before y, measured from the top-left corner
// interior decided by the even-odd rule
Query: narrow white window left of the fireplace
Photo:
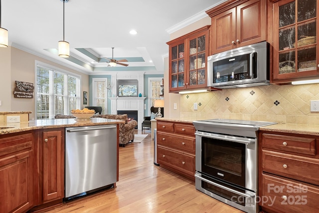
[[[107,114],[108,93],[111,93],[107,78],[92,78],[92,106],[102,107],[102,114]]]

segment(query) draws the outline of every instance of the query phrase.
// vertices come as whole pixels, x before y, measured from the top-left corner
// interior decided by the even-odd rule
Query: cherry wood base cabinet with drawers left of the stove
[[[189,123],[157,121],[160,167],[195,181],[195,128]]]

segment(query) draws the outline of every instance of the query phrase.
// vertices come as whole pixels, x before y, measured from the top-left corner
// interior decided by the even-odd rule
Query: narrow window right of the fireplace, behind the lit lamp
[[[149,78],[149,107],[148,113],[151,113],[151,106],[154,106],[156,99],[163,99],[163,85],[162,78]],[[150,114],[148,115],[150,116]]]

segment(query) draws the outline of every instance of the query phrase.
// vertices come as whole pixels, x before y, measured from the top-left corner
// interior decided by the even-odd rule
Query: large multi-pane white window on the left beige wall
[[[80,109],[81,76],[43,63],[36,63],[36,119],[52,119]]]

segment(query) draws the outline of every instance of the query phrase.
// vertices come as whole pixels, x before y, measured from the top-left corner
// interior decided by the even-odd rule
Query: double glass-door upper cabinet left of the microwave
[[[207,87],[209,25],[167,42],[169,92]]]

